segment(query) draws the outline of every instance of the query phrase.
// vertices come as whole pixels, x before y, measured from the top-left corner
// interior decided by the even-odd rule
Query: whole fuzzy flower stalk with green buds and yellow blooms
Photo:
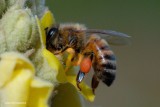
[[[0,107],[49,107],[49,101],[54,107],[83,107],[79,93],[89,101],[93,101],[95,96],[84,82],[80,84],[81,91],[77,88],[78,67],[65,69],[60,60],[46,49],[44,29],[54,25],[55,20],[43,0],[38,1],[34,5],[30,0],[27,2],[31,2],[29,5],[25,0],[10,0],[0,19]],[[25,53],[32,49],[34,51],[26,58]],[[66,56],[61,57],[65,59]],[[67,53],[64,62],[68,65],[70,58]],[[56,90],[58,93],[52,96]]]

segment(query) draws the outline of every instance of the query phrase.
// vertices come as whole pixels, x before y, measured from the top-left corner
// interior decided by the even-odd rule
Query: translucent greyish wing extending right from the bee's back
[[[107,40],[107,42],[112,45],[130,44],[130,36],[121,32],[112,30],[96,30],[96,29],[87,29],[85,30],[85,32],[100,34],[102,38]]]

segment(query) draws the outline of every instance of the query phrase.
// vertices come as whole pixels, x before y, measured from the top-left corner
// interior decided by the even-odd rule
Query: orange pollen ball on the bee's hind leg
[[[81,72],[88,73],[91,69],[91,65],[92,65],[91,59],[88,57],[84,58],[80,64]]]

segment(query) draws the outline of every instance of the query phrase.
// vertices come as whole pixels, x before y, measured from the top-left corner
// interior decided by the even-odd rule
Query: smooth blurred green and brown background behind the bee
[[[47,5],[57,23],[79,22],[132,36],[131,45],[112,46],[117,78],[109,88],[101,83],[87,107],[160,107],[159,0],[47,0]]]

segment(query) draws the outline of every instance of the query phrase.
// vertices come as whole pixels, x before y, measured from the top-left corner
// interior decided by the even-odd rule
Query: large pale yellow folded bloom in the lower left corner
[[[26,107],[30,83],[34,76],[31,62],[21,54],[4,53],[1,55],[0,69],[0,78],[3,78],[0,80],[3,84],[0,87],[0,104],[3,107]]]

